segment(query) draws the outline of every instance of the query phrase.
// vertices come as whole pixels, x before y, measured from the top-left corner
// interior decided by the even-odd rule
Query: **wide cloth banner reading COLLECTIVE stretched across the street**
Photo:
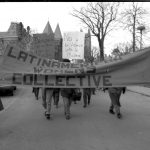
[[[53,88],[122,87],[150,84],[150,48],[95,66],[48,60],[7,46],[0,84]]]

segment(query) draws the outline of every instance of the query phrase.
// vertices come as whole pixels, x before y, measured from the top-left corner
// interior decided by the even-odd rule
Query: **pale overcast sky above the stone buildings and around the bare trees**
[[[37,33],[42,33],[49,21],[53,32],[59,23],[61,33],[80,31],[83,25],[79,19],[70,15],[73,7],[80,9],[85,2],[0,2],[0,32],[8,30],[11,22],[22,22]],[[144,8],[150,8],[150,2],[144,2]],[[147,19],[147,21],[150,20]],[[116,43],[129,40],[127,31],[117,30],[105,41],[105,51],[111,52]],[[97,39],[92,38],[92,45],[98,46]],[[150,44],[149,44],[150,45]]]

